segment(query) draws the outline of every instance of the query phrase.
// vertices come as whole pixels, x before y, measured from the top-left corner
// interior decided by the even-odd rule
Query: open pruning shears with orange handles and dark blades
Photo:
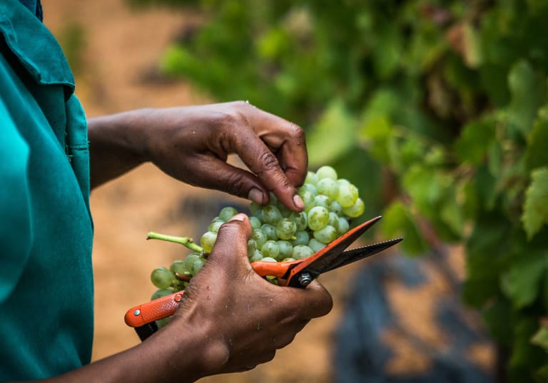
[[[310,255],[310,257],[290,262],[257,261],[251,263],[251,267],[262,277],[278,277],[280,285],[304,288],[324,272],[335,270],[338,267],[370,257],[401,242],[403,238],[395,238],[364,247],[357,247],[352,250],[345,250],[360,238],[363,233],[369,230],[372,225],[375,225],[380,218],[378,216],[358,225],[333,240],[333,242],[330,242],[329,245],[323,247],[318,252]],[[126,312],[124,317],[126,325],[135,328],[139,338],[142,341],[145,340],[158,330],[156,320],[169,317],[176,312],[179,302],[183,298],[183,293],[184,290],[175,292],[171,295],[166,295],[166,297],[161,297],[131,308]]]

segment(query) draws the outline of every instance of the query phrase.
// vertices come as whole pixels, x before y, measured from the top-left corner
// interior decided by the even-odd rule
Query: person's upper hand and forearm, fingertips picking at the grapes
[[[96,185],[120,173],[116,161],[133,156],[138,162],[150,160],[191,185],[222,190],[260,205],[268,203],[271,191],[290,210],[304,208],[297,194],[308,169],[303,130],[243,101],[93,119],[90,141],[91,178]],[[228,164],[231,153],[248,170]],[[100,161],[97,166],[94,158]],[[121,170],[131,167],[130,160]]]

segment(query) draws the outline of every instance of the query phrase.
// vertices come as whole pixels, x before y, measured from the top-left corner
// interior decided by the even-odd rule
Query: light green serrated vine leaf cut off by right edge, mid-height
[[[522,223],[529,240],[548,222],[548,167],[533,170],[525,193]]]

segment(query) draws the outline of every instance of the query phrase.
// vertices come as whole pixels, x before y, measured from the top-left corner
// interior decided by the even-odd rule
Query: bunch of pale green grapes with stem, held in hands
[[[310,257],[346,233],[350,228],[350,219],[362,215],[365,208],[355,185],[338,179],[335,169],[330,166],[323,166],[315,173],[309,171],[298,193],[305,203],[301,213],[285,208],[272,193],[266,206],[251,203],[250,262],[286,262]],[[238,211],[235,208],[220,210],[208,226],[208,231],[201,236],[201,246],[187,237],[149,233],[148,238],[179,242],[193,250],[184,260],[174,261],[169,268],[153,270],[151,280],[158,287],[153,300],[186,288],[191,277],[206,262],[220,225],[236,214]]]

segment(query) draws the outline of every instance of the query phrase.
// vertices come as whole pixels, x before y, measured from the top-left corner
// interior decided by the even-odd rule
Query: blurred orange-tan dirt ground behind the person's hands
[[[76,71],[76,94],[88,116],[209,101],[184,82],[150,81],[168,41],[192,20],[193,15],[188,12],[168,9],[131,11],[123,0],[44,1],[44,22],[59,39],[66,38],[64,31],[73,23],[83,29],[83,71]],[[148,281],[151,270],[158,265],[168,266],[181,257],[180,247],[146,241],[146,233],[153,230],[198,236],[204,227],[203,220],[196,215],[201,212],[206,220],[213,218],[219,201],[243,203],[221,193],[204,193],[178,183],[151,165],[143,165],[93,191],[96,280],[93,359],[138,344],[136,334],[124,324],[123,315],[128,308],[149,300],[154,290]],[[295,342],[278,352],[273,362],[244,374],[210,377],[203,382],[331,382],[333,330],[348,293],[347,281],[352,280],[357,270],[357,266],[346,267],[323,276],[322,282],[334,298],[333,311],[311,322]],[[437,292],[444,288],[434,287]],[[417,317],[412,326],[425,332],[426,337],[436,337],[424,319],[429,310],[427,295],[432,291],[416,294]],[[405,292],[394,289],[392,296],[405,300],[405,307],[408,306]],[[484,347],[478,355],[484,366],[492,362],[489,349]],[[405,369],[415,362],[403,356],[393,364],[394,368]]]

